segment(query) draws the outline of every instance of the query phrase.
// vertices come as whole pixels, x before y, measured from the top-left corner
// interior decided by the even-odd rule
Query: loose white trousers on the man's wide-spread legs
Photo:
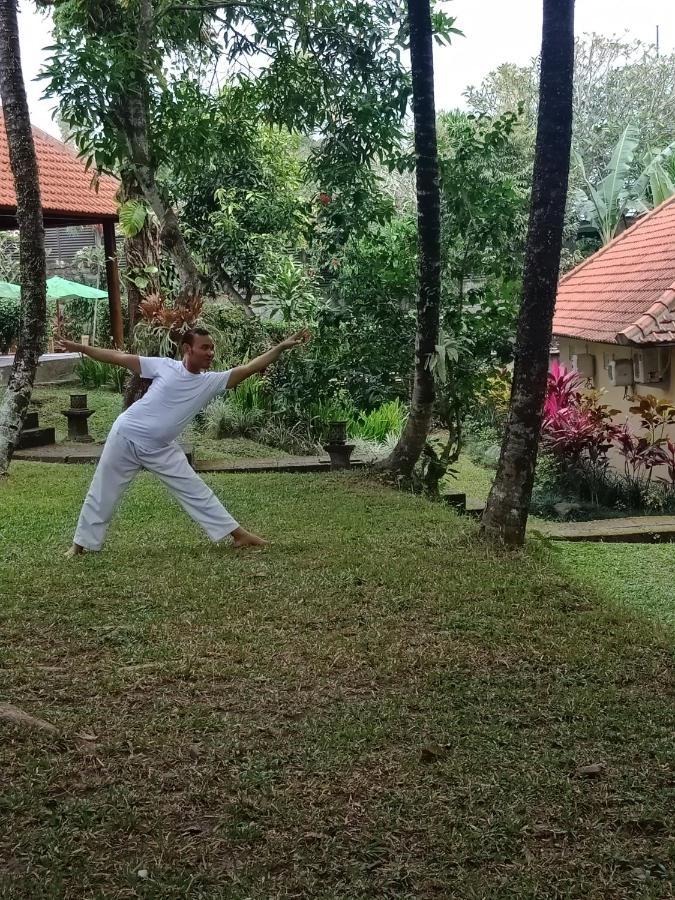
[[[222,540],[238,527],[175,441],[159,450],[145,450],[113,425],[82,506],[74,543],[86,550],[101,549],[115,508],[141,469],[154,472],[164,482],[212,541]]]

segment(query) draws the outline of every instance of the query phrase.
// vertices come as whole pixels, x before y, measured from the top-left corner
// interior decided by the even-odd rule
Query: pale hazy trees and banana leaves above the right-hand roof
[[[606,243],[624,213],[651,208],[671,195],[675,170],[669,170],[660,153],[668,157],[675,141],[674,67],[675,54],[658,55],[653,46],[640,41],[598,34],[577,39],[573,135],[577,164],[570,173],[569,203],[575,221],[574,227],[570,223],[563,271],[597,249],[585,231],[577,236],[579,211]],[[538,59],[527,66],[506,63],[466,92],[469,108],[478,115],[522,109],[515,136],[530,169],[538,81]]]

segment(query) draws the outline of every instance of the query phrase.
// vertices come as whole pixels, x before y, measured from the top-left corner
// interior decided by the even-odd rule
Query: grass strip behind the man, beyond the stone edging
[[[60,387],[36,387],[31,399],[32,409],[40,416],[41,426],[56,428],[56,440],[66,439],[67,422],[61,410],[70,405],[70,394],[86,393],[90,409],[95,413],[89,419],[89,433],[96,441],[104,441],[110,426],[122,412],[122,396],[114,391],[101,388],[87,390],[78,384]],[[281,459],[288,454],[276,447],[268,447],[248,438],[225,438],[213,440],[200,434],[191,426],[183,438],[189,441],[199,459]]]

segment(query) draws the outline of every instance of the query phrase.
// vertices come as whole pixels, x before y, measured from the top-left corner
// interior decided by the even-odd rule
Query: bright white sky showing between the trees
[[[541,0],[452,0],[447,11],[456,17],[464,37],[435,51],[436,105],[452,109],[463,105],[468,85],[478,85],[503,62],[526,63],[539,52]],[[51,43],[49,20],[35,12],[29,0],[19,7],[19,37],[24,78],[33,124],[59,137],[52,119],[53,101],[41,100],[42,87],[35,81],[46,58],[43,48]],[[663,52],[675,50],[673,0],[577,0],[575,30],[578,35],[595,31],[607,36],[628,36],[653,43],[660,26]]]

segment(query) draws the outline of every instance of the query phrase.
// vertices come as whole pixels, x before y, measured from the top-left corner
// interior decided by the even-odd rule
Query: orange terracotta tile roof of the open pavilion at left
[[[91,171],[85,171],[84,162],[77,158],[71,147],[35,126],[33,140],[45,214],[117,218],[115,193],[118,183],[114,178],[102,176],[97,191],[91,184]],[[14,180],[9,167],[7,134],[0,108],[0,212],[13,213],[15,207]]]

